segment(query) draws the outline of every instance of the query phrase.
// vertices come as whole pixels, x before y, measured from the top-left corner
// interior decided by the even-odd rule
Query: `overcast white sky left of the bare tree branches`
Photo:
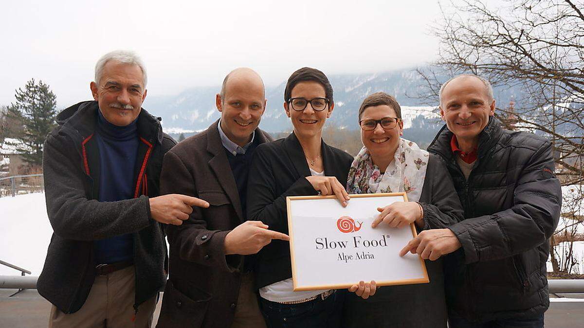
[[[148,96],[219,85],[247,66],[268,85],[297,68],[327,74],[413,67],[434,58],[436,1],[5,1],[0,19],[0,104],[42,79],[58,107],[91,98],[98,58],[141,55]]]

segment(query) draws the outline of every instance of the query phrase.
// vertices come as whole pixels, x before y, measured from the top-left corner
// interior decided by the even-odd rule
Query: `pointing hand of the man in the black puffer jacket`
[[[399,252],[399,256],[411,252],[420,254],[424,260],[434,261],[460,247],[460,241],[450,229],[430,229],[420,232],[416,238],[410,240]]]

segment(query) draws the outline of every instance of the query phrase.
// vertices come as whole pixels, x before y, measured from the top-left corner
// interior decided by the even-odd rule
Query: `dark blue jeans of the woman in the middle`
[[[325,299],[318,297],[300,304],[281,304],[260,299],[260,308],[268,328],[336,328],[340,326],[340,310],[345,290]]]

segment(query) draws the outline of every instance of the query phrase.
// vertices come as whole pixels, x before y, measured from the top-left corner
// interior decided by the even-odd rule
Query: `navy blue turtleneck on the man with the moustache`
[[[99,149],[99,201],[134,198],[134,168],[138,156],[138,126],[109,123],[98,110],[96,140]],[[134,257],[131,233],[93,242],[96,263],[114,263]]]

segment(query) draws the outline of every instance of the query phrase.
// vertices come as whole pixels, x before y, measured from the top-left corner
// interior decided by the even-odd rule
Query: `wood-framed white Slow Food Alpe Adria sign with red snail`
[[[417,235],[380,224],[378,207],[408,201],[405,193],[350,195],[347,207],[335,196],[286,197],[294,291],[349,288],[359,281],[378,286],[429,282],[418,254],[399,257]]]

